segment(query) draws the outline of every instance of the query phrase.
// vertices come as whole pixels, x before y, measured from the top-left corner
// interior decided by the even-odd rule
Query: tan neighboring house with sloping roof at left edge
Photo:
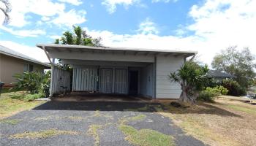
[[[44,64],[0,45],[0,81],[5,83],[5,87],[16,81],[13,77],[15,74],[27,71],[43,72],[44,69],[50,69],[50,64]]]

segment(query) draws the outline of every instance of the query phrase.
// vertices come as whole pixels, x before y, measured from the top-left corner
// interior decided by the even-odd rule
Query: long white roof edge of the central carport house
[[[80,49],[80,50],[117,50],[117,51],[133,51],[133,52],[153,52],[153,53],[183,53],[188,56],[197,54],[197,51],[181,51],[181,50],[161,50],[161,49],[148,49],[148,48],[134,48],[134,47],[93,47],[84,45],[56,45],[56,44],[37,44],[37,47],[45,47],[46,50],[54,48],[62,49]]]

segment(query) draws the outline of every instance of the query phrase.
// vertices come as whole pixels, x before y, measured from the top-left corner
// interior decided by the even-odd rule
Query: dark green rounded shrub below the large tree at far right
[[[246,89],[242,88],[241,85],[239,85],[238,82],[236,82],[236,80],[222,80],[222,86],[227,88],[227,95],[230,96],[241,96],[246,93]]]

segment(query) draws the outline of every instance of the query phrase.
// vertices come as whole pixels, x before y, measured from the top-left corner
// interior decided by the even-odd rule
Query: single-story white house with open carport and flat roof
[[[58,58],[73,68],[69,74],[51,62],[50,96],[72,90],[177,99],[181,86],[170,82],[168,74],[177,71],[187,57],[197,53],[81,45],[40,44],[37,47],[45,50],[49,61]]]

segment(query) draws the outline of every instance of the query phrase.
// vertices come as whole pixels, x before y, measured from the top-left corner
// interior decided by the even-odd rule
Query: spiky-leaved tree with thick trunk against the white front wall
[[[203,90],[208,80],[207,72],[208,66],[200,66],[194,61],[187,61],[177,72],[169,74],[171,82],[178,82],[181,85],[180,101],[195,103],[199,91]]]

